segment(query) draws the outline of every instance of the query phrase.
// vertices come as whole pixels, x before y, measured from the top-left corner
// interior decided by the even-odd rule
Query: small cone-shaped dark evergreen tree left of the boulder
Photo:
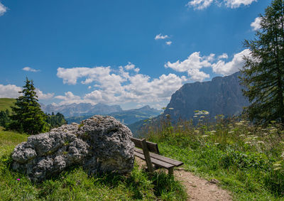
[[[9,129],[25,132],[27,134],[39,134],[45,128],[45,114],[38,104],[38,96],[33,86],[33,80],[26,78],[26,85],[23,86],[22,96],[16,99],[15,107],[11,107],[11,123]]]

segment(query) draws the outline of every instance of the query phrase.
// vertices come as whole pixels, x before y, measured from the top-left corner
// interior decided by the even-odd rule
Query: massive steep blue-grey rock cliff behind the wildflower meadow
[[[206,110],[209,116],[241,114],[249,100],[243,96],[239,85],[240,72],[225,77],[214,77],[209,82],[195,82],[183,85],[176,91],[164,114],[171,119],[192,119],[195,110]],[[173,108],[173,109],[169,109]]]

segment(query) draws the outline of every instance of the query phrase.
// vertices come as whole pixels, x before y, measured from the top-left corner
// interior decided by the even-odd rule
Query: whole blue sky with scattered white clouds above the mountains
[[[146,104],[231,75],[268,0],[0,0],[0,97],[26,77],[43,104]]]

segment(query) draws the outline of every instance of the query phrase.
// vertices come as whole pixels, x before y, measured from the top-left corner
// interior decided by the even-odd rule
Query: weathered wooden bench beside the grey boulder
[[[169,175],[173,175],[173,168],[183,165],[181,161],[175,161],[171,158],[161,156],[157,143],[146,141],[145,138],[131,138],[131,141],[133,141],[136,146],[134,156],[146,161],[146,165],[150,173],[153,173],[153,171],[158,168],[165,168],[168,170]]]

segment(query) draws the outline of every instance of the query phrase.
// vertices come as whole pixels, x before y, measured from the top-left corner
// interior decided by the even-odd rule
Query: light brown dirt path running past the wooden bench
[[[136,161],[140,166],[146,165],[140,158],[136,158]],[[185,186],[189,197],[187,200],[232,200],[228,191],[219,188],[218,180],[204,180],[183,168],[175,168],[174,175]]]

